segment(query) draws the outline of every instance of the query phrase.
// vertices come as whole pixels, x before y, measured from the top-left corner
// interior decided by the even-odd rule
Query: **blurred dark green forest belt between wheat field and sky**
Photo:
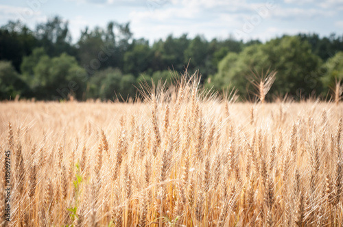
[[[205,88],[237,88],[241,100],[250,99],[252,75],[268,70],[277,71],[268,98],[328,98],[335,81],[343,79],[343,35],[285,35],[263,43],[184,34],[151,44],[133,38],[130,23],[110,22],[80,32],[73,40],[59,16],[34,30],[20,21],[3,25],[0,99],[127,100],[136,96],[142,81],[169,83],[186,69],[189,75],[198,72]]]

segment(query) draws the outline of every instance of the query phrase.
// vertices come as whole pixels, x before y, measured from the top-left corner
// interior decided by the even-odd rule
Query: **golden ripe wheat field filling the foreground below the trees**
[[[197,84],[0,103],[1,226],[342,226],[342,103],[239,103]]]

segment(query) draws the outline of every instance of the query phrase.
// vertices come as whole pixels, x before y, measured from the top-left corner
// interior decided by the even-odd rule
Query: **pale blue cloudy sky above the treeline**
[[[282,34],[343,34],[343,0],[12,0],[0,2],[0,25],[21,19],[36,23],[59,15],[69,21],[73,39],[80,29],[108,21],[130,21],[134,38],[150,43],[169,34],[206,39],[270,40]]]

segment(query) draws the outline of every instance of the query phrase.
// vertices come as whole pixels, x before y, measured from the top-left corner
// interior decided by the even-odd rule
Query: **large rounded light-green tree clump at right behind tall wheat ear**
[[[248,46],[238,55],[228,53],[207,86],[218,89],[231,83],[246,96],[252,72],[261,74],[270,69],[276,70],[277,74],[269,94],[299,96],[301,93],[307,96],[314,90],[321,92],[320,64],[320,58],[311,53],[307,41],[302,42],[296,36],[283,36],[265,44]]]

